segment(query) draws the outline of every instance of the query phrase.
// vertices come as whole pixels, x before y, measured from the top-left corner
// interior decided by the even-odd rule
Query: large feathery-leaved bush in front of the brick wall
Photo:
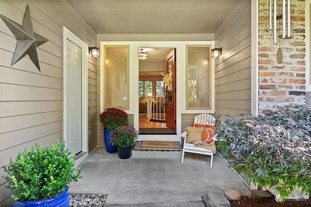
[[[218,149],[229,166],[284,201],[300,187],[311,192],[311,110],[287,106],[262,115],[217,114]]]

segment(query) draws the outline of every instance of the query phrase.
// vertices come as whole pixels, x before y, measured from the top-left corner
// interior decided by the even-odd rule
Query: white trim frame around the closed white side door
[[[81,48],[81,69],[82,69],[82,79],[81,79],[81,101],[82,101],[82,152],[86,152],[86,156],[88,155],[88,110],[87,110],[87,100],[88,100],[88,74],[87,74],[87,54],[88,54],[88,46],[86,43],[84,43],[79,37],[77,37],[75,34],[70,32],[66,27],[63,27],[63,118],[64,118],[64,141],[67,141],[67,40],[70,40],[75,45],[77,45],[79,48]],[[82,158],[79,163],[82,162],[82,160],[85,158]],[[75,165],[78,165],[77,163],[78,159],[76,160]]]

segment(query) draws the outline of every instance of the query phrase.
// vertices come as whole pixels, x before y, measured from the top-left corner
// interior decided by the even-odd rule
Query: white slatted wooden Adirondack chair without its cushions
[[[208,113],[201,113],[201,114],[194,117],[193,126],[195,124],[215,126],[215,122],[216,122],[216,118],[213,115],[208,114]],[[182,157],[181,157],[181,163],[184,162],[185,152],[190,152],[190,153],[196,153],[196,154],[211,156],[210,167],[212,167],[214,153],[208,149],[205,149],[202,147],[197,147],[192,143],[187,143],[187,134],[188,134],[187,131],[184,131],[181,134],[181,137],[184,138],[184,146],[183,146],[183,153],[182,153]]]

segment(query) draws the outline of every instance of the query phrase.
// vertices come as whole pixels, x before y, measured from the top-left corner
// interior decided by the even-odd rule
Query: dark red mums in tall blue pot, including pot
[[[107,108],[100,115],[99,120],[104,127],[104,142],[108,153],[117,152],[117,146],[109,140],[110,131],[116,127],[128,125],[128,115],[125,111],[116,108]]]

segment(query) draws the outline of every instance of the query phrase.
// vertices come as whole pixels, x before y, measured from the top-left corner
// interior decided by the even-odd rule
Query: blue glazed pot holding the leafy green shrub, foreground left
[[[69,191],[41,201],[15,201],[13,207],[69,207]]]

